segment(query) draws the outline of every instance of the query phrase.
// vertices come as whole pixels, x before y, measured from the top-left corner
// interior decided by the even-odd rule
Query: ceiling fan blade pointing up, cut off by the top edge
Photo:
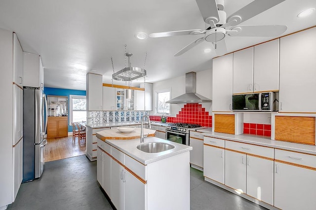
[[[210,24],[209,21],[213,20],[214,25],[219,22],[219,14],[217,9],[216,0],[196,0],[199,11],[202,14],[205,23]]]

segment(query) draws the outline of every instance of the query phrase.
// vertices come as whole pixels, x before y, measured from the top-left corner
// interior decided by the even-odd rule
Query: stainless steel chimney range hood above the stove
[[[197,73],[189,72],[186,73],[186,93],[178,96],[174,99],[171,99],[166,104],[193,104],[193,103],[204,103],[204,102],[212,102],[212,100],[201,96],[196,93],[197,92]]]

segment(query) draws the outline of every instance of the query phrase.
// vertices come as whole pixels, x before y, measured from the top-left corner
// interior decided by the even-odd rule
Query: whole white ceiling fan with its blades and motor
[[[227,53],[225,36],[276,36],[284,33],[286,26],[261,25],[261,26],[240,26],[238,24],[252,18],[261,12],[283,2],[284,0],[254,0],[237,12],[226,18],[224,11],[224,0],[196,0],[197,6],[206,24],[205,30],[184,30],[172,32],[160,32],[150,34],[150,37],[165,37],[175,35],[204,35],[182,48],[174,56],[182,55],[202,41],[212,42],[218,56]]]

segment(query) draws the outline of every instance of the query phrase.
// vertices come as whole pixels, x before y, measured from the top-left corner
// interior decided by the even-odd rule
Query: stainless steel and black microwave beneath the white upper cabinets
[[[276,111],[274,92],[233,95],[233,111]]]

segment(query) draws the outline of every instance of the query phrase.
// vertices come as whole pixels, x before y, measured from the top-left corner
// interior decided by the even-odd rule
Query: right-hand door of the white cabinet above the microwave
[[[253,92],[278,91],[279,39],[254,46]]]

